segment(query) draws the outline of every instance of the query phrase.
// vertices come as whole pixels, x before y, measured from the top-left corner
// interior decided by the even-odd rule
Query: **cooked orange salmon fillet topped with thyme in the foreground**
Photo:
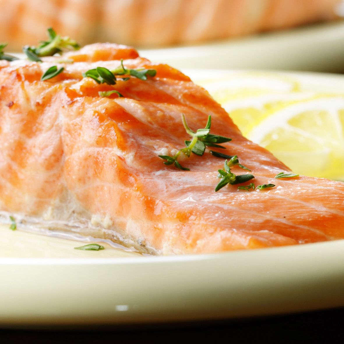
[[[114,86],[82,73],[152,68],[147,80]],[[67,63],[63,62],[67,61]],[[74,61],[74,62],[73,62]],[[64,71],[45,81],[51,66]],[[116,89],[100,97],[99,91]],[[218,192],[224,160],[206,149],[164,165],[189,139],[182,125],[232,138],[226,149],[271,189]],[[344,238],[344,183],[299,176],[244,138],[226,111],[189,77],[136,50],[93,44],[42,63],[0,61],[0,221],[110,239],[151,254],[188,254]],[[248,173],[233,166],[235,174]],[[248,183],[245,183],[246,185]]]

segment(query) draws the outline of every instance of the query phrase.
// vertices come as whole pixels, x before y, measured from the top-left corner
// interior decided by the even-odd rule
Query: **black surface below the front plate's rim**
[[[343,319],[344,308],[338,308],[211,323],[1,329],[0,343],[341,343]]]

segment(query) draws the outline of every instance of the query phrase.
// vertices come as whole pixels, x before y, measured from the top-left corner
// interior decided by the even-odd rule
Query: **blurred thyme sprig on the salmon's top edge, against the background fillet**
[[[47,29],[47,34],[49,40],[41,41],[41,44],[37,47],[29,45],[23,47],[23,52],[30,61],[42,62],[40,57],[53,56],[55,54],[61,55],[63,51],[80,49],[79,44],[75,40],[67,36],[62,37],[58,35],[53,28]]]

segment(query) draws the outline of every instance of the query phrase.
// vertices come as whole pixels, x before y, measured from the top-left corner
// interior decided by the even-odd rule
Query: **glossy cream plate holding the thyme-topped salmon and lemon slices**
[[[241,72],[188,73],[197,81]],[[344,90],[343,76],[280,75],[296,78],[302,90]],[[344,240],[168,257],[106,244],[74,249],[84,244],[0,226],[0,325],[205,320],[344,306]]]

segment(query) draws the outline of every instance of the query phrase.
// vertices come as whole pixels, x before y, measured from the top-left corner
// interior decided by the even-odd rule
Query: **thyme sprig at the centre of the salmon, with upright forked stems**
[[[178,152],[176,152],[173,156],[170,155],[158,155],[159,158],[166,160],[164,161],[165,165],[172,165],[180,170],[183,171],[190,171],[190,169],[183,167],[178,162],[178,157],[181,153],[185,154],[188,158],[190,157],[191,153],[194,153],[196,155],[202,156],[205,152],[206,146],[210,147],[218,147],[218,148],[224,148],[223,146],[220,146],[216,143],[224,143],[231,141],[229,137],[219,136],[210,134],[210,128],[211,128],[211,116],[208,116],[207,124],[205,128],[197,129],[197,131],[193,131],[190,129],[190,127],[187,125],[185,115],[181,114],[182,116],[182,122],[183,126],[186,130],[186,132],[192,137],[191,141],[184,141],[185,146],[184,148],[180,149]]]

